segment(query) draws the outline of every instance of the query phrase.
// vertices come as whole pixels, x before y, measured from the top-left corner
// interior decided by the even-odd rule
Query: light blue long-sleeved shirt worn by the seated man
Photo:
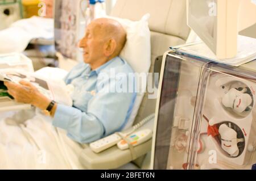
[[[89,64],[75,66],[64,79],[75,87],[71,95],[73,107],[57,104],[53,126],[65,129],[68,137],[82,144],[121,131],[134,106],[135,79],[127,81],[127,87],[133,87],[129,88],[133,91],[113,92],[122,81],[113,81],[113,71],[125,75],[122,78],[133,73],[130,65],[119,57],[93,71]]]

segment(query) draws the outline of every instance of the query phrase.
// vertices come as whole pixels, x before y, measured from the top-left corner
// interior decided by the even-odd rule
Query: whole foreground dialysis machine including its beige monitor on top
[[[255,49],[252,56],[246,51],[255,40],[238,41],[238,33],[256,22],[255,10],[250,0],[187,0],[188,26],[208,46],[208,55],[229,64],[237,57],[254,60]],[[188,52],[173,49],[163,58],[151,168],[252,169],[256,60],[234,67]]]

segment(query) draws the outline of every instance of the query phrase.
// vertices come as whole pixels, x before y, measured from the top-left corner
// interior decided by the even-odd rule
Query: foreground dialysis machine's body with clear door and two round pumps
[[[256,163],[255,65],[256,60],[234,68],[168,51],[151,168],[251,169]]]

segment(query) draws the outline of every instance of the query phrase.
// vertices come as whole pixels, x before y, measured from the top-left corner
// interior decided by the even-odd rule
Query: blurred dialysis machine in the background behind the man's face
[[[55,1],[55,49],[63,56],[82,62],[79,41],[84,36],[88,16],[86,0]]]

